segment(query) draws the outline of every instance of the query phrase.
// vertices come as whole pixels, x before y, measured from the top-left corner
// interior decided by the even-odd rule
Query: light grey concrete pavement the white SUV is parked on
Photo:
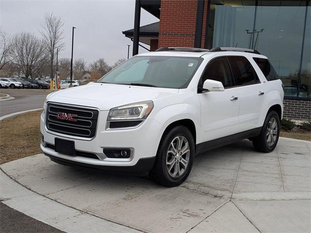
[[[65,232],[311,232],[306,141],[281,138],[259,153],[243,140],[200,154],[173,188],[42,154],[0,167],[2,202]]]

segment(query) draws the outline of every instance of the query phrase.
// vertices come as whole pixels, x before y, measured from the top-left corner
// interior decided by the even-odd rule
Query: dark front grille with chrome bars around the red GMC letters
[[[72,119],[61,119],[59,115],[74,115]],[[49,103],[46,126],[48,130],[72,136],[91,138],[95,136],[98,111]]]

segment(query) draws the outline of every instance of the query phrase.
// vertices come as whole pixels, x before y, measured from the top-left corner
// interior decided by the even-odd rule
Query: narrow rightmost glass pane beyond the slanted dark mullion
[[[303,47],[303,56],[301,64],[301,84],[299,88],[299,97],[311,99],[311,13],[310,13],[310,2],[307,7],[307,21],[306,21],[306,32],[305,41]]]

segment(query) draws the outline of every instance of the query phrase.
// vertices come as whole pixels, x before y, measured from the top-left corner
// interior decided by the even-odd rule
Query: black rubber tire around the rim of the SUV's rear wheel
[[[276,126],[277,126],[276,139],[273,139],[273,141],[274,141],[273,144],[269,145],[268,136],[267,136],[269,134],[268,125],[269,125],[270,121],[273,121],[273,119],[276,120]],[[261,133],[259,134],[259,136],[254,137],[252,140],[255,150],[258,150],[260,152],[265,152],[265,153],[271,152],[272,150],[274,150],[276,148],[276,144],[278,141],[279,134],[280,134],[280,118],[279,118],[276,111],[271,111],[266,116],[266,119],[265,119],[263,126],[262,126],[262,129],[261,129]],[[273,135],[272,135],[272,137],[274,138]],[[272,138],[271,138],[271,140],[272,140]]]

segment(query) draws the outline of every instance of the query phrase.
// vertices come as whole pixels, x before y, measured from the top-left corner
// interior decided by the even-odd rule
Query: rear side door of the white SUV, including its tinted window
[[[264,102],[264,85],[244,56],[228,56],[234,88],[239,93],[239,132],[260,127],[259,116]]]

